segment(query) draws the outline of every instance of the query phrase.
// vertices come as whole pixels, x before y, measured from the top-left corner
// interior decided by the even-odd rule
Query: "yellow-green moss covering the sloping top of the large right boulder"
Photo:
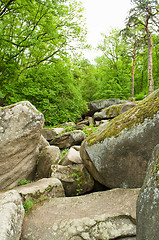
[[[123,129],[143,123],[146,118],[153,118],[159,111],[159,90],[155,91],[148,98],[142,100],[136,107],[114,118],[108,126],[96,134],[87,138],[88,145],[103,141],[105,138],[117,137]]]

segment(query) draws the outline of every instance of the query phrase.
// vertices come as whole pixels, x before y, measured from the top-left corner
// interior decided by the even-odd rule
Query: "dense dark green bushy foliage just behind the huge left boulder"
[[[60,60],[29,69],[8,88],[8,104],[30,101],[44,114],[46,125],[76,122],[86,110],[86,103],[74,85],[70,69]]]

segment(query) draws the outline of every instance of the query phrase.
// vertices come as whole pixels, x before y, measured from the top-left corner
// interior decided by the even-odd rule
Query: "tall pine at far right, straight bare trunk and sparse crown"
[[[134,4],[133,8],[129,12],[127,25],[130,28],[136,28],[136,26],[144,26],[147,43],[148,43],[148,54],[147,54],[147,76],[149,83],[149,94],[154,91],[154,80],[153,80],[153,61],[152,61],[152,26],[156,26],[158,23],[158,1],[157,0],[131,0]]]

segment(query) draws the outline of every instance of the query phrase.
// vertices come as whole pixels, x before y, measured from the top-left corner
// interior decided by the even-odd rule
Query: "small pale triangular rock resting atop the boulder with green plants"
[[[68,152],[65,154],[65,156],[61,159],[59,164],[63,166],[71,165],[71,164],[80,164],[83,163],[80,152],[75,150],[73,147],[71,147]]]

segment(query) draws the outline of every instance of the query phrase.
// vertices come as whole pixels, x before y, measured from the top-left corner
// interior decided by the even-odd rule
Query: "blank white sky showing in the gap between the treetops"
[[[87,41],[94,48],[97,47],[101,33],[109,33],[112,28],[122,29],[125,18],[128,16],[131,3],[130,0],[81,0],[85,7],[87,19]],[[91,51],[86,53],[90,60],[97,53]]]

